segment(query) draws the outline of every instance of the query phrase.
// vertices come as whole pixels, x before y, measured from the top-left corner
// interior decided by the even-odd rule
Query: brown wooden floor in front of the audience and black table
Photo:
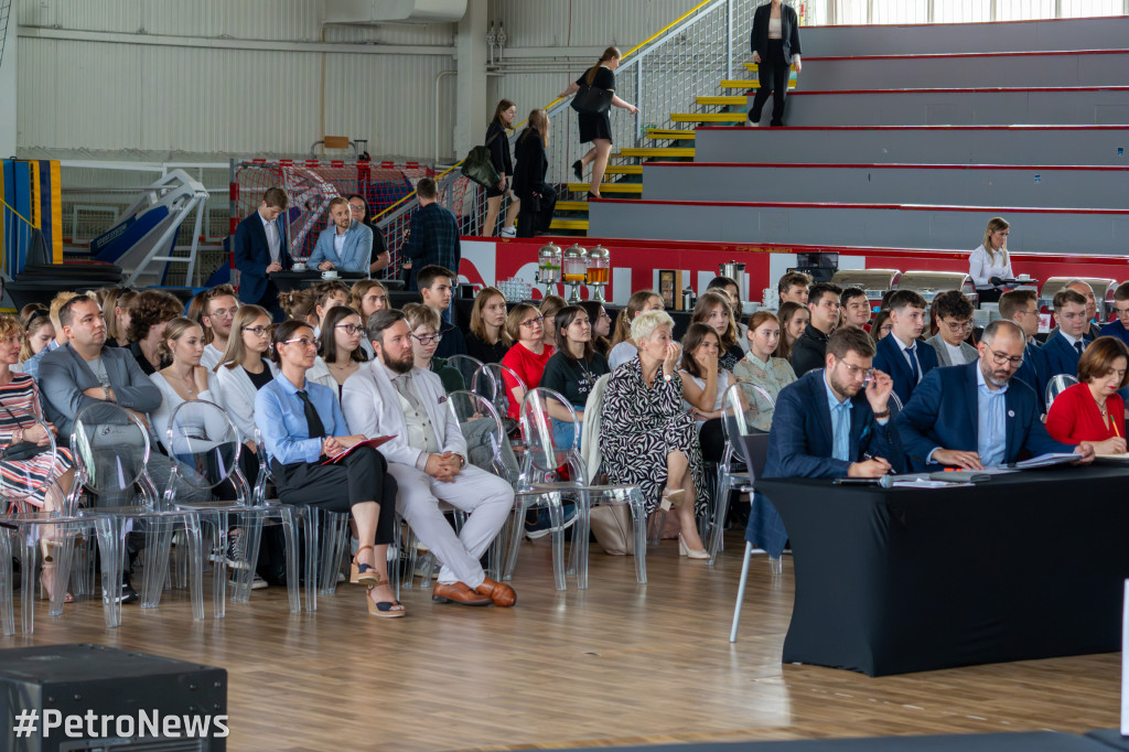
[[[1118,725],[1120,657],[1084,656],[868,679],[780,665],[791,561],[773,578],[754,558],[739,639],[728,642],[741,569],[733,536],[716,567],[665,541],[637,586],[630,558],[593,546],[590,589],[552,588],[550,549],[523,548],[515,609],[432,604],[367,615],[343,586],[314,614],[257,591],[224,620],[192,622],[183,595],[125,607],[37,612],[32,639],[0,647],[99,642],[222,666],[231,750],[551,749]],[[960,556],[954,552],[954,556]],[[1050,554],[1049,554],[1050,556]],[[944,566],[944,562],[938,562]],[[833,624],[828,626],[833,629]]]

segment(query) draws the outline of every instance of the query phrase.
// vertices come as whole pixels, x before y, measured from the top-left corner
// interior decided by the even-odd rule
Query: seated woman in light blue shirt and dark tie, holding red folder
[[[300,321],[274,327],[271,358],[278,376],[255,394],[255,422],[263,436],[271,473],[283,504],[313,504],[351,511],[360,550],[350,582],[368,586],[368,612],[403,617],[404,606],[388,586],[387,552],[396,519],[396,481],[384,456],[359,446],[333,464],[323,464],[364,441],[349,434],[333,390],[306,379],[317,340]]]

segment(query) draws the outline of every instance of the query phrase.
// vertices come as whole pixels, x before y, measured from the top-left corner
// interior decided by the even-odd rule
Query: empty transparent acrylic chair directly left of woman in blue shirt
[[[205,400],[182,402],[169,417],[166,446],[170,448],[172,472],[163,498],[164,508],[199,513],[201,522],[208,522],[212,528],[212,550],[224,553],[212,576],[215,617],[219,619],[226,611],[227,577],[224,559],[227,557],[228,531],[231,530],[233,517],[243,530],[244,558],[236,569],[237,585],[231,600],[250,600],[263,521],[278,521],[286,537],[290,613],[300,611],[296,510],[278,504],[255,502],[256,498],[252,496],[247,479],[239,470],[239,456],[245,447],[222,408]],[[201,491],[200,496],[207,493],[213,500],[184,500],[182,491],[186,489]],[[227,498],[216,499],[217,492]]]

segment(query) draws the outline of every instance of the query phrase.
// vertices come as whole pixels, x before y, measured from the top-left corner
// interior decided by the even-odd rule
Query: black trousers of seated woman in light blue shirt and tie
[[[353,451],[342,462],[322,465],[271,461],[274,484],[282,504],[313,504],[329,511],[349,511],[356,504],[376,501],[376,544],[392,543],[396,524],[396,479],[384,455],[370,446]]]

